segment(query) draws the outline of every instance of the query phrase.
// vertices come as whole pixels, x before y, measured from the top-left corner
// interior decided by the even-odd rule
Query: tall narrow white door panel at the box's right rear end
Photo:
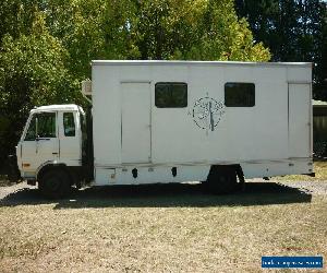
[[[311,85],[289,84],[289,156],[311,157]]]

